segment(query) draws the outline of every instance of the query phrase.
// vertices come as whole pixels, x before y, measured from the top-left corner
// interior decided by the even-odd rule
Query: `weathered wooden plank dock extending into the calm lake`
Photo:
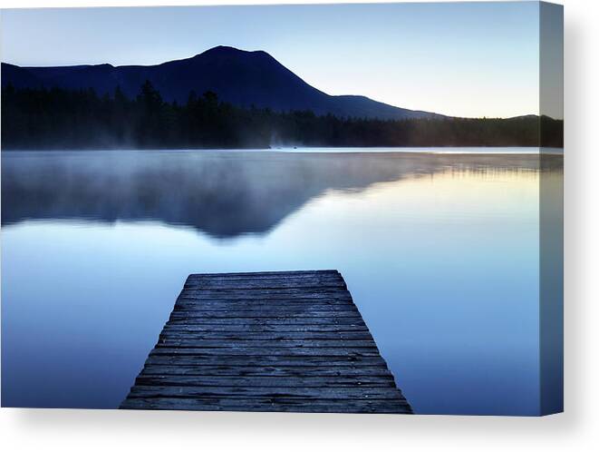
[[[189,275],[121,408],[411,413],[337,270]]]

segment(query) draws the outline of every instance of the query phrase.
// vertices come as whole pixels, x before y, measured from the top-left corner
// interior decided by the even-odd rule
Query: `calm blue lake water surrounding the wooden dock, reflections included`
[[[416,412],[537,414],[562,157],[312,151],[2,152],[3,406],[116,408],[189,273],[337,269]]]

